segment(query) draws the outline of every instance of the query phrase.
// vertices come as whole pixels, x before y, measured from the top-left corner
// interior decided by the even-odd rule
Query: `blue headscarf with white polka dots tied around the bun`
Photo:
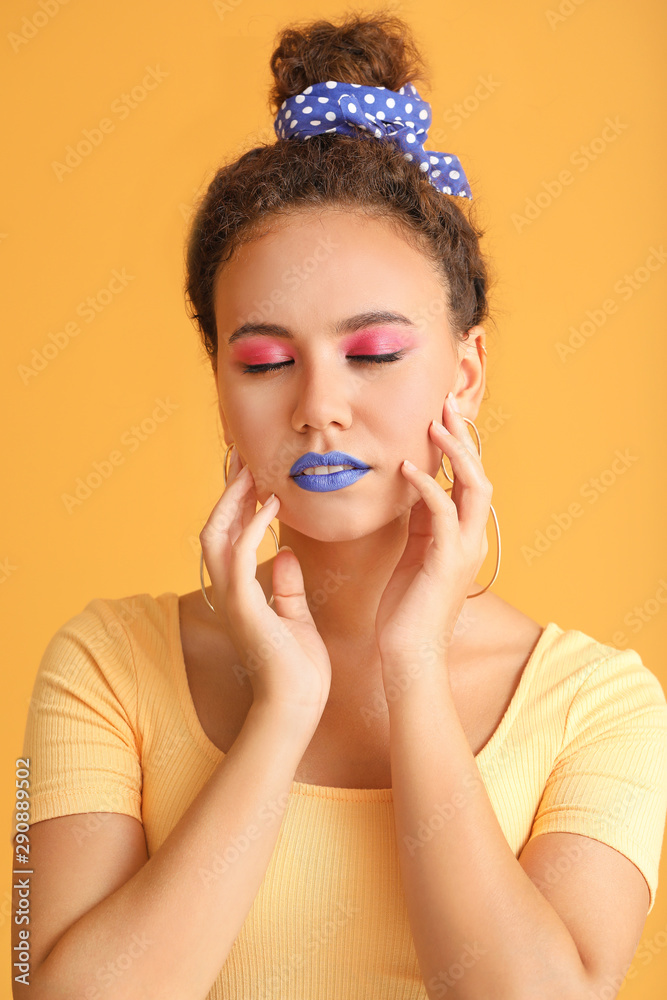
[[[354,136],[357,129],[395,142],[406,160],[414,160],[439,191],[472,199],[458,156],[424,149],[431,124],[431,105],[412,83],[400,90],[364,87],[327,80],[306,87],[280,106],[273,127],[279,139],[310,139],[320,132]]]

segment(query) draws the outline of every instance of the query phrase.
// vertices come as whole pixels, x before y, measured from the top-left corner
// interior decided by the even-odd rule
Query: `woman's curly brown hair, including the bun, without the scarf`
[[[271,56],[269,108],[322,80],[400,90],[428,81],[409,26],[388,12],[350,13],[282,29]],[[423,252],[442,278],[455,340],[489,317],[484,232],[460,197],[438,191],[391,142],[330,132],[280,139],[220,167],[199,202],[186,244],[188,315],[217,368],[216,279],[235,251],[290,211],[352,209],[382,218]]]

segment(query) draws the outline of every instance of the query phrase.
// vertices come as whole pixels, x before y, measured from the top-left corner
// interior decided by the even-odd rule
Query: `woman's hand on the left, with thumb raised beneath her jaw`
[[[225,491],[199,535],[211,603],[249,675],[253,704],[302,715],[314,732],[331,687],[329,653],[291,550],[279,552],[273,561],[275,610],[266,601],[255,578],[257,548],[280,501],[274,497],[255,513],[256,505],[252,473],[241,468],[235,447]]]

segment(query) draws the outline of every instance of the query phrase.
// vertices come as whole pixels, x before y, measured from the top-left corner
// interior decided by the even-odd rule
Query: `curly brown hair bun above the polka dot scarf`
[[[428,84],[426,66],[400,17],[382,11],[350,14],[338,24],[317,20],[292,24],[278,35],[271,56],[274,114],[287,97],[324,80],[400,90],[419,80]]]

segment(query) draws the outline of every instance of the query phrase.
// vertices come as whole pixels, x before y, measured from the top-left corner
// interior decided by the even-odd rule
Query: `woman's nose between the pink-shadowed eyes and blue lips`
[[[306,428],[324,430],[331,423],[347,428],[352,422],[351,397],[353,380],[348,382],[332,371],[331,360],[320,357],[307,361],[295,380],[297,398],[292,414],[292,427],[303,432]]]

